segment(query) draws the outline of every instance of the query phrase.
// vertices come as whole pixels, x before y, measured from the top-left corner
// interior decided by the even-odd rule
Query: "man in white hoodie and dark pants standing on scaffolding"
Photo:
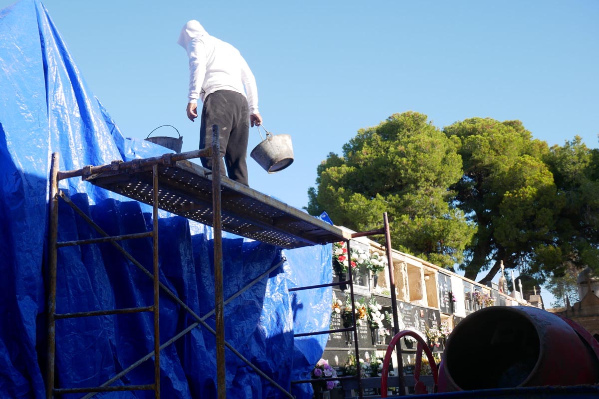
[[[247,142],[249,124],[259,126],[256,79],[237,48],[208,35],[196,20],[187,22],[177,41],[189,56],[189,102],[187,117],[198,117],[198,99],[202,100],[199,148],[210,147],[211,126],[219,126],[220,172],[248,184]],[[245,89],[245,90],[244,90]],[[246,94],[247,93],[247,94]],[[223,162],[223,157],[225,161]],[[201,159],[210,169],[210,161]]]

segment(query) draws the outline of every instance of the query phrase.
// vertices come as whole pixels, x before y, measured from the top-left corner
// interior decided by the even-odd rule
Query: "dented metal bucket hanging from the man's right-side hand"
[[[273,135],[266,132],[266,139],[262,138],[260,128],[258,133],[262,142],[252,150],[252,157],[258,165],[262,166],[268,173],[276,173],[283,170],[294,162],[294,148],[291,145],[291,136],[289,135]]]

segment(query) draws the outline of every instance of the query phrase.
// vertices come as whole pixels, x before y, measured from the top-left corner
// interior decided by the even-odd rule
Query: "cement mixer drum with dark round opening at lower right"
[[[439,392],[597,383],[599,351],[586,335],[536,307],[486,307],[447,339]]]

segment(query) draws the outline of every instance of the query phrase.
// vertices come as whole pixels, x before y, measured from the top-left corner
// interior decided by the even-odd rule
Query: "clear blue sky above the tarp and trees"
[[[123,134],[172,124],[184,151],[197,148],[199,124],[185,115],[181,26],[199,20],[234,44],[258,81],[265,126],[294,142],[282,172],[249,159],[250,186],[297,208],[329,152],[395,112],[422,112],[440,128],[519,119],[550,145],[574,135],[599,144],[599,1],[43,3]],[[259,141],[250,130],[250,149]]]

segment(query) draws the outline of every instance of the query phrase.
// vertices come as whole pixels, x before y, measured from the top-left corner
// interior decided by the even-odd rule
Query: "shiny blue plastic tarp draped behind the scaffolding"
[[[46,8],[23,0],[0,11],[0,397],[44,398],[47,335],[47,245],[49,165],[60,153],[60,170],[105,165],[169,152],[146,141],[126,139],[78,73]],[[74,178],[60,188],[108,234],[151,229],[147,206]],[[59,241],[97,237],[62,201]],[[213,231],[180,217],[159,220],[160,281],[196,315],[214,308]],[[120,242],[152,270],[152,242]],[[59,249],[57,312],[149,306],[152,280],[108,243]],[[227,234],[223,239],[225,299],[276,266],[282,251]],[[331,281],[331,246],[284,251],[288,261],[225,306],[225,339],[298,398],[322,355],[328,336],[294,339],[294,333],[327,330],[331,288],[288,288]],[[164,291],[160,337],[167,342],[196,322]],[[214,316],[206,319],[214,328]],[[56,386],[96,386],[153,349],[152,313],[56,321]],[[193,328],[161,351],[161,394],[165,398],[216,395],[215,339]],[[226,351],[231,398],[282,397],[230,351]],[[153,360],[114,385],[153,381]],[[65,395],[79,398],[82,394]],[[113,392],[103,398],[150,398],[152,392]]]

